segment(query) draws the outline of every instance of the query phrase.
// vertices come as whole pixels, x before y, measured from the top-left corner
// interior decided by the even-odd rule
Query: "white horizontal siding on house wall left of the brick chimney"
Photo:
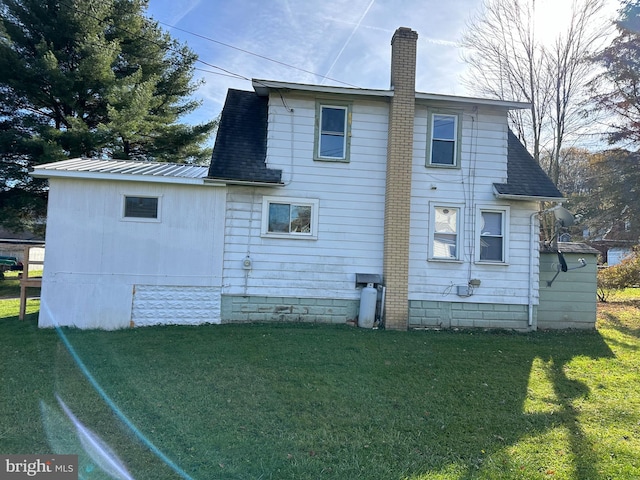
[[[382,274],[388,104],[354,101],[350,161],[319,162],[316,99],[285,100],[293,112],[271,98],[267,148],[268,166],[282,170],[285,186],[229,187],[223,293],[359,299],[356,273]],[[317,200],[317,240],[262,235],[263,195]],[[242,269],[247,255],[249,271]]]

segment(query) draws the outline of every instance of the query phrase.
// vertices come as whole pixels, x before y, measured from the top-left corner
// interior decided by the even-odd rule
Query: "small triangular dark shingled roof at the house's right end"
[[[494,183],[493,186],[500,195],[563,198],[562,193],[511,130],[507,142],[507,183]]]

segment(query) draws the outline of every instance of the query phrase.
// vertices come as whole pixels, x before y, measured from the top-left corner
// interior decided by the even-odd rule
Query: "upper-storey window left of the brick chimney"
[[[348,161],[349,107],[318,105],[317,160]]]

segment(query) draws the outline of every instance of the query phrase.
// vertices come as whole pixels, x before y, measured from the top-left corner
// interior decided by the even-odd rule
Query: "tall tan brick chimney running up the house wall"
[[[409,227],[418,34],[396,30],[391,40],[391,89],[384,209],[385,328],[406,330],[409,319]]]

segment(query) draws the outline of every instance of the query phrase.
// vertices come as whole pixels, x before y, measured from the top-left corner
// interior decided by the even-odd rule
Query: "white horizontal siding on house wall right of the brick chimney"
[[[535,202],[512,202],[508,206],[506,263],[479,262],[476,258],[478,207],[500,210],[493,184],[507,181],[507,124],[498,109],[469,107],[460,112],[459,168],[425,168],[429,142],[428,105],[416,105],[413,171],[411,179],[411,227],[409,299],[435,302],[500,303],[526,305],[529,294],[531,213]],[[458,261],[434,261],[432,254],[433,205],[460,206]],[[459,297],[456,286],[481,280],[470,297]],[[537,278],[533,279],[537,292]]]

